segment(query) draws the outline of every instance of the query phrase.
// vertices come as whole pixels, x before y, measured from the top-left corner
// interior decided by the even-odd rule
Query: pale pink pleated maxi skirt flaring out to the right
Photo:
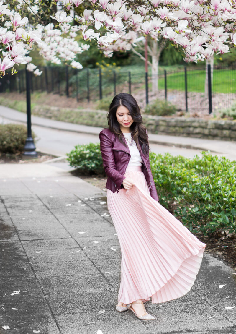
[[[121,247],[118,301],[184,296],[194,284],[206,244],[151,196],[141,167],[126,169],[135,186],[107,190],[107,205]]]

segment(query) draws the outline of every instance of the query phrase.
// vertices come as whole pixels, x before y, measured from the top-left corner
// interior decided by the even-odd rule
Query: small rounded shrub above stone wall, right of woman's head
[[[148,104],[144,109],[146,114],[157,116],[173,115],[177,112],[177,109],[170,102],[165,100],[154,100],[151,104]]]

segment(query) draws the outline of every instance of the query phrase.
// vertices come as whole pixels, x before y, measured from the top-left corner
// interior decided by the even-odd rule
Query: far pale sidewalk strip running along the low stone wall
[[[22,123],[26,123],[27,121],[27,116],[25,113],[21,113],[3,106],[0,106],[0,116]],[[37,116],[32,116],[31,121],[32,125],[91,135],[98,135],[102,130],[102,128],[99,127],[54,121]],[[155,134],[149,134],[149,142],[153,144],[184,147],[187,149],[197,149],[204,151],[210,150],[213,153],[225,154],[225,156],[229,156],[231,160],[236,160],[236,142]]]

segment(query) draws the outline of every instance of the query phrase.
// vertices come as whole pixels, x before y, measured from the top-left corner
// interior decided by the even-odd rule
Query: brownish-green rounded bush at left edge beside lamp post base
[[[32,138],[35,134],[32,132]],[[0,153],[19,155],[24,152],[27,127],[23,124],[0,124]]]

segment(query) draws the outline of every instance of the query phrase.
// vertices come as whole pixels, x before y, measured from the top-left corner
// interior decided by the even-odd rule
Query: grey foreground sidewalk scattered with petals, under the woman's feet
[[[148,302],[154,321],[118,313],[106,193],[51,164],[2,164],[0,177],[1,334],[236,333],[236,275],[221,261],[205,253],[185,296]]]

